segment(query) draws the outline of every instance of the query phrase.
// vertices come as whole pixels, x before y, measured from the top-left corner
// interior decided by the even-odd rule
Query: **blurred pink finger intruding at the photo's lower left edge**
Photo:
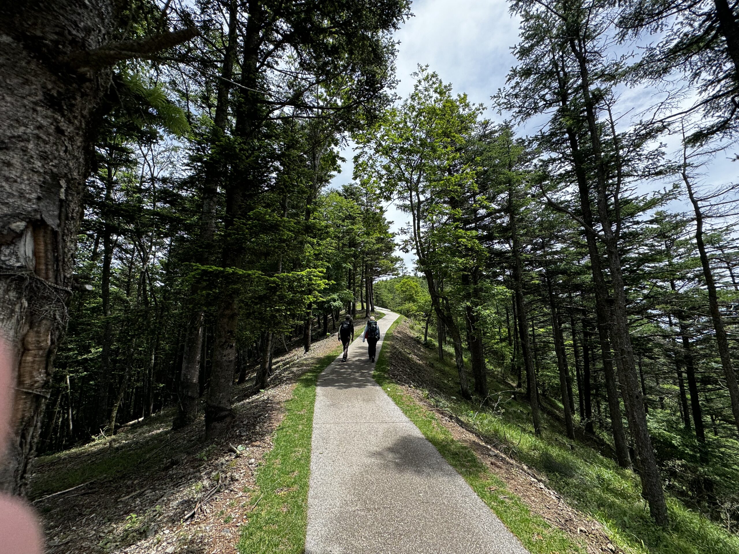
[[[12,346],[0,336],[0,444],[10,432],[13,406],[13,367],[16,356]],[[4,448],[3,448],[4,450]],[[2,460],[0,459],[0,463]],[[41,526],[33,508],[21,499],[0,494],[0,553],[41,554]]]

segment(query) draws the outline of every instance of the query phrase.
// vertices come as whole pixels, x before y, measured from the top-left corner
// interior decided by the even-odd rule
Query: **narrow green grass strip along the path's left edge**
[[[310,440],[319,374],[341,353],[341,345],[320,358],[298,380],[285,403],[285,419],[275,431],[273,448],[256,473],[242,526],[240,553],[295,553],[305,547],[310,477]]]

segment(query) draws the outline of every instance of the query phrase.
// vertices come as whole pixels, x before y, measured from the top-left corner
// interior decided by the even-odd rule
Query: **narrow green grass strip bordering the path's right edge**
[[[516,495],[506,490],[505,483],[500,478],[488,471],[471,448],[454,440],[452,433],[440,423],[432,411],[403,392],[403,389],[388,377],[388,353],[389,346],[392,345],[392,331],[402,320],[402,316],[398,318],[385,335],[386,343],[375,366],[375,380],[531,553],[585,553],[585,548],[574,543],[568,535],[531,513]]]

